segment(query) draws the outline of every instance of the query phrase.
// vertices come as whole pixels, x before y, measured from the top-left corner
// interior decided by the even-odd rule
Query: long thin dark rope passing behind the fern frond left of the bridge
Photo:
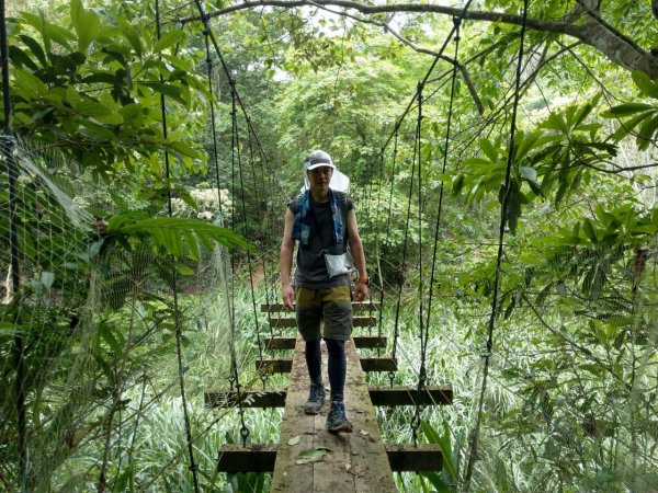
[[[160,2],[156,0],[156,33],[158,41],[160,41]],[[164,82],[162,73],[160,73],[160,83]],[[164,94],[160,93],[160,110],[162,113],[162,137],[167,140],[167,107],[164,105]],[[169,167],[169,152],[164,151],[164,177],[167,179],[167,207],[169,210],[169,217],[173,216],[171,207],[171,184],[169,181],[170,167]],[[190,425],[190,415],[188,414],[188,402],[185,398],[185,381],[183,376],[183,351],[182,351],[182,326],[179,311],[179,299],[178,299],[178,271],[175,268],[177,261],[172,259],[173,272],[172,272],[172,290],[173,290],[173,312],[174,312],[174,328],[175,328],[175,349],[178,356],[178,370],[179,370],[179,383],[181,390],[181,404],[183,406],[183,420],[185,422],[185,438],[188,440],[188,452],[190,455],[190,470],[192,471],[192,481],[194,483],[194,492],[198,493],[198,477],[196,473],[196,462],[194,461],[194,447],[192,439],[192,429]]]

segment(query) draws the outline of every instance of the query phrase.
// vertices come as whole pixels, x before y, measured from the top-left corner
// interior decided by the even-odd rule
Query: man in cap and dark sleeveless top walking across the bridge
[[[352,200],[342,192],[329,187],[333,161],[321,150],[311,152],[304,163],[307,187],[285,213],[281,244],[281,284],[283,305],[293,309],[296,302],[297,329],[306,344],[306,365],[310,377],[310,392],[304,404],[306,414],[318,414],[325,402],[321,374],[320,337],[324,335],[329,353],[328,372],[331,387],[331,409],[327,429],[332,433],[352,432],[345,415],[343,389],[347,359],[344,344],[352,334],[352,302],[350,279],[347,274],[330,276],[325,253],[341,254],[349,244],[359,282],[354,291],[356,301],[367,295],[365,254],[359,237]],[[298,242],[295,288],[291,270],[295,241]],[[324,321],[324,334],[320,322]]]

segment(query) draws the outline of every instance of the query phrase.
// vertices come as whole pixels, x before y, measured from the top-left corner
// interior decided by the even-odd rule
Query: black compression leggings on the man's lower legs
[[[329,353],[329,385],[331,386],[331,400],[342,401],[345,387],[345,371],[348,360],[345,358],[345,342],[334,339],[326,339]],[[306,365],[308,376],[315,383],[322,381],[322,353],[320,352],[320,340],[306,341]]]

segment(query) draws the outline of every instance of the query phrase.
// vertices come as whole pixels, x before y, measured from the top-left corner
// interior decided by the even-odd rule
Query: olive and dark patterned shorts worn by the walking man
[[[297,329],[305,341],[325,339],[347,341],[352,335],[352,301],[347,284],[326,289],[295,288]],[[324,331],[320,325],[324,322]]]

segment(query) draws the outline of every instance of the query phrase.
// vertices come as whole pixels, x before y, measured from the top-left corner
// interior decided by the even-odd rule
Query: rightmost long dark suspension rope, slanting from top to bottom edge
[[[476,460],[476,456],[477,456],[477,438],[479,435],[479,427],[480,427],[481,416],[483,416],[485,392],[487,389],[487,377],[489,375],[489,362],[491,358],[491,351],[494,348],[494,328],[496,324],[496,317],[498,314],[498,289],[500,287],[500,271],[501,271],[501,263],[502,263],[504,225],[506,225],[507,207],[508,207],[510,187],[511,187],[511,170],[512,170],[512,159],[513,159],[513,154],[514,154],[514,135],[517,133],[517,112],[518,112],[519,100],[520,100],[523,45],[524,45],[524,41],[525,41],[526,20],[527,20],[527,0],[523,0],[523,23],[521,25],[521,42],[519,45],[519,60],[517,62],[515,92],[514,92],[514,102],[513,102],[513,106],[512,106],[512,119],[511,119],[511,126],[510,126],[510,147],[509,147],[507,168],[506,168],[506,174],[504,174],[504,188],[503,188],[504,193],[503,193],[503,198],[502,198],[502,205],[500,207],[500,223],[499,223],[499,229],[498,229],[498,254],[496,257],[496,277],[494,280],[494,295],[491,297],[491,316],[489,317],[489,324],[488,324],[487,351],[484,355],[485,365],[484,365],[484,369],[483,369],[483,386],[480,389],[475,428],[473,431],[470,452],[468,455],[468,463],[466,467],[466,475],[464,478],[464,491],[468,491],[470,488],[470,479],[473,477],[473,467],[475,465],[475,460]]]

